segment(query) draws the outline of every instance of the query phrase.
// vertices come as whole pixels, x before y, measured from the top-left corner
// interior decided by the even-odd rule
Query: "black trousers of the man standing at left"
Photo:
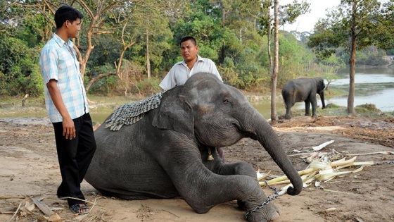
[[[62,182],[58,187],[58,197],[76,197],[85,199],[81,191],[81,183],[84,179],[91,159],[96,150],[96,140],[89,113],[84,114],[74,121],[76,137],[65,139],[63,136],[63,123],[53,123],[55,130],[56,149],[61,169]],[[68,199],[68,204],[84,203],[76,199]]]

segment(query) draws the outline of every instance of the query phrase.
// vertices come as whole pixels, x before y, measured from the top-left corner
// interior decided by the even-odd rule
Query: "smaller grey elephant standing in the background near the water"
[[[305,116],[310,116],[310,104],[312,104],[312,117],[316,117],[317,99],[319,94],[322,99],[322,109],[326,107],[324,104],[324,85],[323,78],[299,78],[286,82],[282,89],[282,97],[286,106],[286,119],[291,118],[291,107],[296,102],[305,101]]]

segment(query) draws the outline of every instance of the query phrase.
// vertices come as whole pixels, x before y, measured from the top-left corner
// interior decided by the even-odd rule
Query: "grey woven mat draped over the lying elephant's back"
[[[141,120],[141,118],[144,118],[147,111],[158,108],[163,92],[164,91],[159,92],[152,97],[135,103],[119,106],[115,109],[113,115],[106,121],[106,128],[117,131],[122,128],[122,125],[134,124]]]

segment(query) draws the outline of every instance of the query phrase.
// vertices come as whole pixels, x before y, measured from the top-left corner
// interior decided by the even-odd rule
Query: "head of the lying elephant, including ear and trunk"
[[[182,132],[204,147],[227,147],[243,137],[258,140],[291,180],[288,194],[301,192],[303,182],[276,133],[239,90],[207,73],[172,90],[177,93],[163,94],[153,125]]]

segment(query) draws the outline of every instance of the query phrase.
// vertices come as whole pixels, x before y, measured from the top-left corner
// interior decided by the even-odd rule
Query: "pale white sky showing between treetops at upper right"
[[[298,32],[311,32],[319,18],[326,18],[326,8],[333,8],[341,4],[341,0],[306,0],[310,3],[310,13],[301,15],[295,23],[284,25],[284,30]],[[300,1],[298,1],[300,2]],[[291,4],[293,0],[279,0],[279,4]]]

